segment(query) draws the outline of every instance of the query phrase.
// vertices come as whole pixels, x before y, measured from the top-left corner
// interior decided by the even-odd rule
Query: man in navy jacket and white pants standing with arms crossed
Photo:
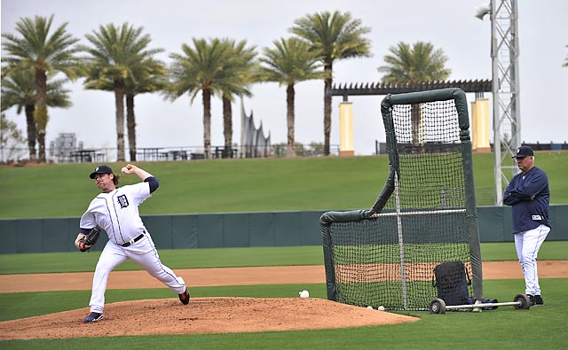
[[[544,170],[534,167],[531,147],[517,148],[513,158],[517,159],[521,173],[511,179],[505,189],[503,203],[511,206],[513,214],[513,234],[518,260],[525,275],[525,293],[532,305],[543,305],[536,259],[540,245],[550,231],[548,177]]]

